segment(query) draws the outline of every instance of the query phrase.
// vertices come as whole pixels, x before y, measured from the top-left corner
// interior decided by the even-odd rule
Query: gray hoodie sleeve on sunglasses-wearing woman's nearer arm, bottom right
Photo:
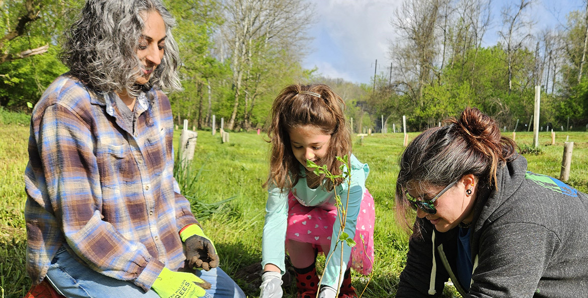
[[[553,231],[536,223],[486,229],[466,297],[533,297],[559,244]]]

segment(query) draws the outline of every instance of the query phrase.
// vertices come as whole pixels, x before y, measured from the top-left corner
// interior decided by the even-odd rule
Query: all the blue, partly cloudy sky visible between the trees
[[[356,83],[369,83],[377,72],[389,72],[388,51],[395,39],[390,25],[400,0],[309,0],[315,5],[316,24],[309,34],[314,37],[311,52],[303,67],[317,67],[325,77],[343,78]],[[492,27],[483,45],[494,45],[502,28],[500,11],[517,1],[492,1]],[[527,18],[535,22],[533,32],[565,25],[568,12],[585,9],[584,0],[535,0]]]

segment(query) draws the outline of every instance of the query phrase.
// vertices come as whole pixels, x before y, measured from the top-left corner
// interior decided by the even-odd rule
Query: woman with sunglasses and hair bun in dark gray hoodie
[[[586,295],[586,194],[527,171],[477,108],[446,122],[400,157],[397,217],[413,233],[396,297],[438,297],[449,278],[463,297]]]

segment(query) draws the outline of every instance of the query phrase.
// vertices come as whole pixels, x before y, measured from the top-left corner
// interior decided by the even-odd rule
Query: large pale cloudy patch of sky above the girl
[[[378,73],[389,67],[389,41],[395,38],[390,19],[400,1],[312,0],[318,23],[313,52],[305,67],[319,67],[325,75],[341,75],[353,82],[368,83],[374,62]],[[381,67],[380,67],[381,66]],[[323,69],[325,68],[325,69]],[[349,77],[349,78],[346,78]]]

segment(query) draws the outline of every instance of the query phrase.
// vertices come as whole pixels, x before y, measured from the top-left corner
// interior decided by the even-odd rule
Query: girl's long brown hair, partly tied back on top
[[[320,95],[299,93],[314,92]],[[335,157],[351,152],[351,138],[348,125],[343,115],[345,103],[327,85],[289,85],[276,97],[272,105],[272,122],[268,137],[272,144],[269,161],[269,177],[263,187],[277,186],[282,190],[292,188],[300,178],[300,163],[292,153],[288,130],[302,126],[314,125],[324,134],[330,134],[329,147],[325,157],[319,161],[326,165],[330,173],[340,175],[340,162]],[[320,181],[325,175],[320,176]],[[335,185],[342,183],[337,178]],[[330,181],[324,181],[328,190],[333,189]],[[323,183],[323,182],[322,182]]]

